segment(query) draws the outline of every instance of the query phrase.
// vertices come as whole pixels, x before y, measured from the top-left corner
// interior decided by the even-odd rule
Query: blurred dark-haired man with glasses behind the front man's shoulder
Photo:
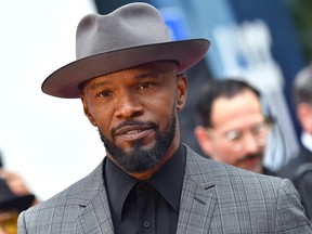
[[[203,88],[196,109],[200,125],[195,138],[211,159],[258,173],[263,167],[271,119],[265,117],[260,93],[237,79],[212,80]]]

